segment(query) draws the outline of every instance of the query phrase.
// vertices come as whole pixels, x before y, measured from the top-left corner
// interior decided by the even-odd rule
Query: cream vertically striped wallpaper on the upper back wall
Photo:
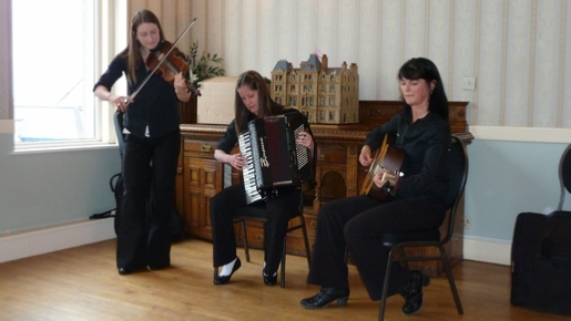
[[[188,3],[173,2],[152,9],[163,20],[197,18],[188,40],[221,54],[228,75],[269,76],[278,60],[298,65],[318,46],[330,65],[358,64],[361,100],[394,100],[398,68],[422,55],[450,100],[470,102],[471,125],[571,127],[567,0],[193,0],[171,12]],[[476,91],[462,89],[466,76]]]

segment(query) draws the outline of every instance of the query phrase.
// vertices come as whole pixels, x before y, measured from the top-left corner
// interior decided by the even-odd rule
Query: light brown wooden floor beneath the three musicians
[[[212,245],[173,245],[172,263],[161,271],[119,276],[115,241],[109,240],[0,265],[0,320],[376,320],[373,302],[350,267],[348,304],[306,310],[299,300],[318,288],[306,284],[307,261],[287,256],[286,288],[262,281],[263,252],[252,250],[232,282],[212,284]],[[509,267],[463,261],[453,268],[465,314],[458,315],[445,277],[425,288],[425,307],[406,317],[391,297],[385,320],[570,320],[512,307]]]

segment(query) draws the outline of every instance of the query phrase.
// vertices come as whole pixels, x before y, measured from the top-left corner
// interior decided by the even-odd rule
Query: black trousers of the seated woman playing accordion
[[[214,267],[222,267],[236,258],[236,235],[234,216],[236,208],[243,206],[264,206],[264,201],[246,205],[244,185],[224,188],[211,199],[211,224]],[[274,273],[279,267],[284,250],[284,237],[289,219],[297,214],[299,191],[281,193],[265,201],[267,221],[264,225],[265,272]]]

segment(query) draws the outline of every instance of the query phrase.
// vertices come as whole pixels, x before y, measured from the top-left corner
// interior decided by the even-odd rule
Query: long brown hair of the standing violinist
[[[159,22],[159,18],[151,12],[150,10],[143,9],[131,18],[131,37],[129,37],[129,46],[126,48],[128,54],[128,74],[129,79],[132,83],[136,83],[135,69],[137,65],[144,64],[143,58],[141,56],[141,43],[136,39],[136,29],[142,23],[154,23],[156,28],[159,28],[159,34],[161,35],[161,40],[164,40],[163,28],[161,27],[161,22]]]

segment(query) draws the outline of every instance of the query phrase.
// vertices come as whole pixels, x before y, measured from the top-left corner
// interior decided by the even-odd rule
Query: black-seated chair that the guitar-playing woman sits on
[[[379,320],[384,320],[385,307],[387,301],[388,283],[390,279],[390,266],[394,261],[408,262],[408,261],[431,261],[440,260],[443,269],[448,276],[448,282],[450,283],[450,290],[455,299],[456,309],[458,314],[463,314],[462,304],[456,283],[453,280],[452,271],[448,260],[448,256],[445,250],[445,245],[450,240],[455,229],[456,211],[460,198],[462,197],[466,180],[468,178],[468,154],[466,146],[462,141],[456,136],[452,136],[452,145],[450,147],[450,154],[448,159],[448,175],[449,175],[449,190],[447,198],[447,207],[449,209],[448,218],[446,222],[448,227],[443,238],[440,237],[440,229],[418,231],[418,232],[402,232],[402,234],[387,234],[384,235],[384,244],[390,247],[389,260],[387,263],[387,271],[385,275],[385,286],[383,289],[383,297],[380,299],[379,308]],[[446,226],[446,225],[445,225]],[[437,247],[439,249],[439,256],[406,256],[405,248],[410,247]],[[399,256],[395,257],[398,252]]]

